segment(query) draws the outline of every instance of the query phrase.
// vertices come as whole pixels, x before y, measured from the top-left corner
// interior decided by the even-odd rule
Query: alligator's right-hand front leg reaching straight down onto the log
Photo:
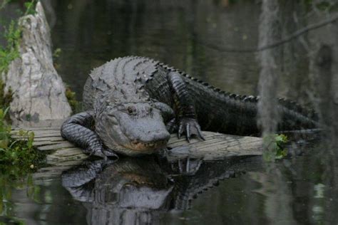
[[[191,135],[196,135],[205,140],[196,120],[193,99],[188,93],[187,87],[180,74],[174,71],[168,73],[170,87],[175,98],[175,108],[178,110],[178,138],[185,133],[189,142]]]

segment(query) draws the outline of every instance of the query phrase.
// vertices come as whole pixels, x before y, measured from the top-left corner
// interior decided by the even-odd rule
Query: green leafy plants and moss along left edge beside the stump
[[[4,9],[9,0],[2,2],[0,9]],[[36,1],[26,2],[24,15],[34,14]],[[19,57],[19,44],[21,41],[21,28],[19,21],[12,20],[9,26],[4,28],[6,46],[0,46],[0,75],[6,73],[11,61]],[[44,158],[43,153],[33,147],[34,132],[21,130],[18,132],[19,140],[14,140],[11,135],[8,111],[12,100],[11,88],[5,93],[5,83],[0,77],[0,214],[6,211],[10,214],[13,206],[11,189],[26,187],[27,194],[36,197],[39,188],[34,186],[30,172],[33,172]],[[11,219],[16,224],[24,224],[23,221]],[[0,222],[2,224],[2,222]]]

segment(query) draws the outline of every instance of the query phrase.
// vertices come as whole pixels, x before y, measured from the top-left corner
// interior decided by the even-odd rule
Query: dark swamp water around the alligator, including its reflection
[[[225,159],[196,162],[195,174],[180,174],[177,163],[121,159],[80,187],[72,186],[72,175],[99,162],[63,181],[9,182],[1,174],[0,224],[337,224],[337,22],[265,53],[237,52],[337,16],[337,3],[277,1],[275,20],[267,2],[276,1],[43,1],[53,48],[62,51],[58,73],[79,100],[92,68],[119,56],[148,56],[232,93],[269,95],[264,88],[312,105],[329,135],[273,165],[259,157]],[[20,7],[9,4],[1,19]]]

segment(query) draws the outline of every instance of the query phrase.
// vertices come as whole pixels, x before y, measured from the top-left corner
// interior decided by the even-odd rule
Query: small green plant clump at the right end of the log
[[[276,159],[282,159],[287,156],[287,149],[285,143],[287,143],[286,135],[267,135],[263,138],[263,146],[265,151],[263,152],[263,159],[265,162],[273,162]]]

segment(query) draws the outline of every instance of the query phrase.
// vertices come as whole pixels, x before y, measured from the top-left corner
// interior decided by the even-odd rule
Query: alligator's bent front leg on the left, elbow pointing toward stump
[[[85,153],[103,158],[118,156],[103,146],[100,137],[96,135],[93,127],[93,114],[91,111],[80,112],[68,118],[61,126],[61,136],[81,147]]]

